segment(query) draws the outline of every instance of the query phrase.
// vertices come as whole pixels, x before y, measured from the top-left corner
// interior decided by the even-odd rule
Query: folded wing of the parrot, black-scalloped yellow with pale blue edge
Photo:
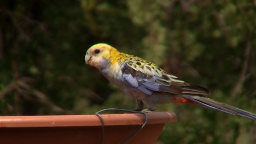
[[[168,74],[155,64],[138,57],[130,57],[121,65],[122,80],[129,86],[146,94],[168,92],[172,94],[208,94],[202,87],[189,85],[176,76]]]

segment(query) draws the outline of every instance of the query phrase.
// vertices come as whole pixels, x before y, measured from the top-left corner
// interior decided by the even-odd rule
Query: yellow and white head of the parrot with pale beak
[[[86,64],[102,70],[111,65],[119,53],[108,44],[94,44],[87,50],[84,60]]]

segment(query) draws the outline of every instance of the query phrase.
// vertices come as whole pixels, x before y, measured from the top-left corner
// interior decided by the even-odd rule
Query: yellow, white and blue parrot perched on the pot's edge
[[[256,114],[206,97],[210,95],[207,88],[179,80],[156,64],[119,52],[109,44],[94,44],[86,51],[84,60],[125,94],[136,99],[134,111],[152,112],[156,110],[156,104],[186,103],[256,120]],[[148,108],[143,109],[144,105]]]

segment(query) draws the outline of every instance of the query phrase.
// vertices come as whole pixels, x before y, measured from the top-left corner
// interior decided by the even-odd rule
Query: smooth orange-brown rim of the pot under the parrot
[[[101,114],[105,126],[142,125],[143,114]],[[146,113],[147,124],[176,122],[174,112]],[[102,126],[98,116],[90,115],[54,115],[54,116],[0,116],[0,128],[22,127],[70,127],[70,126]]]

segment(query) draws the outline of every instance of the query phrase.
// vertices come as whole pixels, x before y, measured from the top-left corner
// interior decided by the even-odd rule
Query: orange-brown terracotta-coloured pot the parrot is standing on
[[[154,144],[173,112],[148,113],[146,126],[129,144]],[[102,114],[104,144],[120,144],[145,121],[143,114]],[[0,116],[0,144],[100,144],[102,123],[96,115]]]

